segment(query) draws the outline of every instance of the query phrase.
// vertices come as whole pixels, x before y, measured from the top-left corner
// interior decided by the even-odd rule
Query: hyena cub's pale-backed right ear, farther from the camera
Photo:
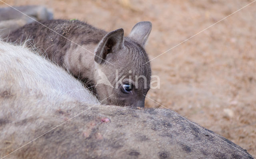
[[[142,47],[144,47],[151,29],[152,29],[151,22],[138,22],[132,28],[132,31],[128,35],[128,37],[134,39],[137,43],[139,43],[140,45],[142,45]]]

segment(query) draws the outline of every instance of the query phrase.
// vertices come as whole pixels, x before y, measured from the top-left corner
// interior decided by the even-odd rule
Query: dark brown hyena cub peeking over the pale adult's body
[[[106,32],[78,20],[48,20],[27,24],[9,39],[33,40],[51,61],[94,86],[99,100],[107,98],[103,104],[144,107],[151,78],[144,45],[151,28],[139,22],[124,37],[123,29]]]

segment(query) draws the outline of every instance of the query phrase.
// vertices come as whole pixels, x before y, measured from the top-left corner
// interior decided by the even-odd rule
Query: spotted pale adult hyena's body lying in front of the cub
[[[0,42],[0,64],[0,157],[86,110],[6,159],[250,158],[170,110],[94,106],[82,84],[28,49]]]

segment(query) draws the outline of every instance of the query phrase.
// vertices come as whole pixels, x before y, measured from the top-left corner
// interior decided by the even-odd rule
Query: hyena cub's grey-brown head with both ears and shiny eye
[[[100,41],[94,57],[95,82],[103,104],[144,107],[151,78],[144,45],[151,28],[150,22],[139,22],[128,37],[123,29],[117,29]]]

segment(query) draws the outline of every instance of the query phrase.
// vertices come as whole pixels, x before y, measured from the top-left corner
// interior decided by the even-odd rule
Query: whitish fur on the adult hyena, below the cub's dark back
[[[85,100],[90,104],[98,102],[72,75],[68,75],[64,69],[52,65],[50,61],[36,53],[32,53],[24,44],[13,46],[0,41],[0,63],[0,73],[4,74],[4,80],[7,82],[1,82],[2,88],[5,88],[4,85],[9,86],[11,82],[13,87],[24,90],[40,90],[42,93],[53,91],[56,96]],[[52,94],[48,96],[49,99],[56,98]]]

